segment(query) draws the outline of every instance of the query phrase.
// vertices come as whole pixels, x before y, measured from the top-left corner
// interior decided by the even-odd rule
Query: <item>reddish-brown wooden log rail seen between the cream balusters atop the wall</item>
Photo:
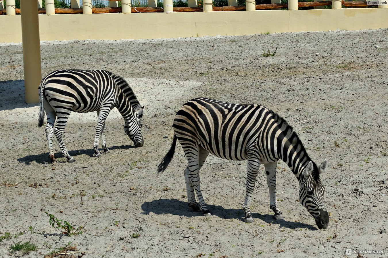
[[[331,5],[331,1],[319,1],[319,2],[300,2],[298,7],[315,7],[322,5]],[[345,7],[367,7],[366,2],[351,2],[351,1],[342,1],[342,5]],[[287,3],[270,3],[256,5],[256,10],[266,10],[266,9],[277,9],[277,8],[288,8]],[[174,7],[174,12],[203,12],[202,7]],[[245,5],[237,6],[223,6],[223,7],[213,7],[214,12],[223,12],[223,11],[245,11]],[[3,14],[7,13],[7,9],[1,10]],[[15,9],[16,14],[20,14],[20,9]],[[92,8],[93,14],[108,14],[108,13],[120,13],[121,7],[105,7],[105,8]],[[139,12],[163,12],[161,7],[132,7],[133,13]],[[1,12],[0,12],[1,13]],[[45,9],[38,9],[39,14],[45,14]],[[70,8],[55,8],[55,14],[82,14],[82,8],[70,9]]]

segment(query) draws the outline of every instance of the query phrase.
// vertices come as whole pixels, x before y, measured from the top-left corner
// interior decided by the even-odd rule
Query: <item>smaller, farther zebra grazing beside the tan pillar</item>
[[[51,162],[55,162],[51,142],[53,134],[68,162],[75,161],[66,150],[62,138],[71,111],[78,113],[97,111],[94,157],[101,155],[98,149],[100,135],[104,153],[109,151],[105,142],[105,120],[114,107],[125,120],[125,133],[136,147],[143,146],[141,127],[144,106],[140,106],[128,82],[121,76],[105,70],[57,70],[43,78],[38,91],[40,97],[38,126],[43,125],[46,111],[45,131]]]

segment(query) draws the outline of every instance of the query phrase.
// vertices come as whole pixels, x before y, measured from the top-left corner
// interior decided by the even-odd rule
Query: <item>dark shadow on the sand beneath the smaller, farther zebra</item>
[[[116,146],[115,145],[115,146],[111,146],[111,147],[108,146],[109,150],[133,149],[133,148],[136,148],[136,147],[133,146],[133,145],[121,145],[121,146]],[[102,149],[100,149],[100,152],[101,151],[102,151]],[[90,148],[90,149],[80,149],[80,150],[68,150],[68,152],[69,152],[69,154],[72,157],[74,157],[76,162],[77,162],[76,157],[79,156],[79,155],[86,154],[89,157],[93,157],[93,154],[94,154],[94,150],[92,150],[92,148]],[[107,154],[103,154],[103,155],[109,155],[110,153],[111,152],[108,152]],[[62,152],[56,152],[54,154],[54,157],[55,157],[55,159],[63,157]],[[96,159],[98,159],[98,158],[96,158]],[[21,158],[17,159],[17,161],[23,162],[26,165],[30,165],[31,162],[36,162],[38,164],[47,164],[47,163],[50,163],[49,152],[43,152],[41,154],[36,154],[36,155],[27,155],[27,156],[24,156],[24,157],[21,157]],[[57,162],[59,162],[59,163],[66,163],[67,161],[57,161]]]

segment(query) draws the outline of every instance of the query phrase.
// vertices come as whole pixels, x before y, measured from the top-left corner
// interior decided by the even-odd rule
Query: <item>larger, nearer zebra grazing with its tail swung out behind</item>
[[[264,164],[270,208],[275,212],[275,219],[282,219],[276,200],[276,167],[281,159],[299,181],[301,204],[314,217],[320,229],[327,228],[329,215],[323,198],[325,188],[319,178],[327,160],[319,167],[312,162],[293,128],[274,111],[264,106],[197,98],[178,110],[173,128],[175,135],[171,149],[159,164],[158,173],[165,171],[170,163],[178,139],[188,161],[184,175],[189,207],[194,211],[201,210],[204,216],[211,215],[199,186],[199,169],[211,153],[223,159],[248,160],[243,209],[244,221],[249,223],[253,222],[250,203],[256,176],[260,164]]]

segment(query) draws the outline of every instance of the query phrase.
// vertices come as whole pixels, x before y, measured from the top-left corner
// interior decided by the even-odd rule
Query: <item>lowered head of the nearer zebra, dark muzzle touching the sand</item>
[[[323,199],[325,187],[319,179],[319,174],[325,170],[326,165],[326,159],[319,167],[310,161],[299,178],[300,203],[313,216],[319,229],[327,229],[329,224],[329,214]]]

